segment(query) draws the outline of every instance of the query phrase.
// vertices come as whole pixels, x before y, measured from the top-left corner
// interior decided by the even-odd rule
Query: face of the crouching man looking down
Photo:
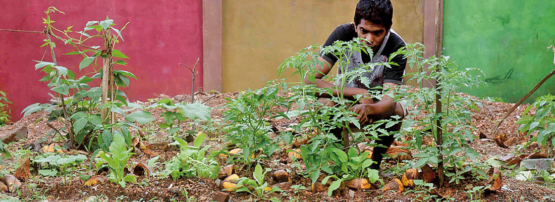
[[[365,43],[366,46],[372,47],[374,52],[380,49],[382,42],[384,42],[385,36],[389,32],[384,26],[371,23],[365,19],[361,19],[355,29],[360,38],[365,38],[370,42],[368,43],[363,41],[362,43]]]

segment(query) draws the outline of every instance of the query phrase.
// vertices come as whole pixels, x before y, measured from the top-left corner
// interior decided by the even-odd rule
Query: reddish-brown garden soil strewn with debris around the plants
[[[199,92],[195,95],[195,100],[205,101],[204,104],[212,107],[212,118],[213,119],[223,119],[223,112],[225,109],[226,98],[235,98],[238,93],[203,93]],[[465,97],[470,97],[472,99],[477,99],[467,94],[461,94]],[[286,95],[284,95],[286,96]],[[159,99],[168,98],[174,102],[186,102],[190,100],[190,95],[178,95],[176,97],[169,97],[168,95],[159,95],[157,98],[149,99],[146,102],[138,102],[144,106],[148,106]],[[490,159],[494,156],[504,156],[511,153],[516,153],[516,148],[520,145],[525,144],[529,135],[533,134],[522,134],[518,132],[518,125],[515,122],[522,115],[524,109],[528,105],[521,105],[517,108],[498,129],[497,135],[505,134],[507,138],[516,138],[517,141],[514,143],[513,147],[501,148],[499,147],[493,139],[496,137],[489,137],[490,129],[495,127],[495,120],[500,119],[504,113],[506,113],[512,106],[512,103],[500,103],[491,102],[488,100],[480,100],[483,107],[480,107],[479,111],[475,111],[475,115],[472,117],[472,123],[475,125],[476,130],[473,132],[475,137],[479,137],[480,133],[485,134],[487,138],[480,139],[476,138],[470,143],[470,146],[478,151],[482,156],[482,160]],[[281,109],[285,110],[285,109]],[[160,115],[163,113],[163,109],[155,108],[149,109],[153,117],[155,117],[154,123],[163,122],[163,117]],[[534,109],[530,113],[534,113]],[[34,114],[27,115],[18,122],[11,123],[6,127],[0,128],[0,137],[3,137],[7,132],[21,126],[28,127],[28,138],[20,140],[19,142],[9,144],[7,147],[13,154],[14,158],[5,159],[3,165],[0,165],[0,171],[2,174],[12,174],[19,165],[18,160],[23,159],[24,156],[36,155],[30,151],[24,151],[22,148],[25,145],[32,144],[39,139],[46,137],[48,132],[51,130],[46,124],[46,120],[42,119],[46,115],[45,112],[38,112]],[[38,122],[37,122],[38,120]],[[279,130],[284,130],[287,125],[296,124],[299,119],[280,119],[273,120],[271,122],[275,128]],[[148,143],[170,143],[171,140],[163,135],[155,135],[159,132],[157,124],[145,124],[139,125],[141,128],[141,133],[138,134],[136,130],[133,130],[133,135],[145,135],[143,141],[145,144]],[[206,124],[206,123],[204,123]],[[53,122],[54,127],[62,127],[62,123]],[[205,127],[209,129],[210,127],[221,127],[219,125],[207,125]],[[226,141],[223,138],[223,134],[218,134],[219,130],[206,130],[207,138],[204,142],[206,145],[211,145],[210,151],[219,150],[226,147]],[[52,135],[46,138],[46,142],[42,145],[47,145],[53,142],[56,138]],[[148,141],[146,141],[148,140]],[[57,144],[62,144],[58,142]],[[262,164],[265,166],[270,166],[274,170],[285,169],[290,171],[290,177],[292,184],[300,184],[306,187],[306,190],[299,190],[296,193],[294,191],[286,191],[284,194],[270,194],[270,196],[275,196],[281,201],[289,201],[290,199],[298,199],[298,201],[428,201],[435,199],[425,199],[422,194],[419,194],[417,190],[406,191],[405,193],[396,193],[395,191],[382,191],[382,190],[350,190],[349,188],[341,187],[340,189],[334,191],[332,196],[327,196],[326,191],[322,193],[312,193],[310,191],[311,180],[302,177],[300,174],[295,173],[295,169],[291,168],[291,159],[287,157],[286,149],[290,149],[290,146],[284,145],[280,147],[275,154],[271,156],[271,159],[263,160]],[[532,153],[533,150],[542,150],[543,148],[531,148],[521,149],[519,153]],[[152,156],[147,154],[133,156],[130,161],[134,163],[147,163],[147,161],[154,156],[160,156],[158,159],[158,164],[154,166],[154,172],[158,173],[163,170],[164,161],[170,160],[176,155],[176,150],[153,150]],[[89,154],[90,159],[90,154]],[[221,166],[224,166],[225,159],[216,159],[219,161]],[[86,160],[83,165],[90,165],[90,161]],[[401,178],[402,171],[398,171],[398,168],[402,168],[405,163],[399,163],[392,159],[386,160],[384,163],[384,170],[386,172],[392,173],[394,177]],[[302,164],[301,164],[302,166]],[[33,167],[33,166],[32,166]],[[236,172],[242,176],[250,176],[248,171],[239,170]],[[397,169],[397,171],[395,171]],[[139,176],[139,183],[128,183],[126,188],[122,188],[115,183],[109,183],[105,181],[95,186],[85,186],[84,181],[79,177],[79,175],[73,175],[73,178],[68,178],[64,182],[62,177],[47,178],[37,174],[37,168],[35,167],[31,171],[31,178],[23,182],[23,186],[19,189],[19,195],[17,193],[3,193],[18,197],[22,200],[41,200],[41,201],[102,201],[108,199],[109,201],[211,201],[213,196],[220,191],[216,185],[216,180],[206,179],[206,178],[182,178],[176,181],[171,180],[171,178],[160,179],[158,176],[151,176],[150,178],[145,176]],[[81,168],[74,172],[84,173],[84,174],[94,174],[93,171],[88,171],[87,169]],[[275,182],[271,179],[269,172],[266,176],[266,181],[270,185]],[[460,184],[455,185],[447,183],[443,188],[439,189],[437,192],[440,195],[448,196],[449,198],[455,199],[455,201],[469,201],[470,196],[474,199],[481,198],[485,201],[552,201],[555,200],[555,190],[553,190],[554,184],[550,183],[531,183],[530,181],[520,181],[514,176],[510,175],[509,171],[502,174],[503,186],[501,190],[497,191],[486,191],[483,195],[471,195],[466,193],[466,190],[471,190],[475,186],[488,185],[487,180],[475,180],[475,181],[462,181]],[[392,178],[382,178],[384,183],[387,183]],[[353,194],[354,191],[354,194]],[[423,190],[420,190],[423,191]],[[229,193],[230,201],[251,201],[256,200],[254,195],[246,193]],[[0,194],[2,196],[2,194]]]

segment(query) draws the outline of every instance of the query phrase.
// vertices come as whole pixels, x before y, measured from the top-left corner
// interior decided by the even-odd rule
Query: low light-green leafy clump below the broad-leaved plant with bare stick
[[[200,149],[200,145],[202,145],[204,138],[206,138],[205,134],[201,133],[199,137],[195,139],[194,146],[191,147],[185,140],[174,137],[175,142],[172,144],[179,145],[180,152],[170,161],[166,161],[166,168],[162,171],[162,176],[167,177],[171,175],[173,180],[177,180],[183,176],[186,178],[192,178],[193,176],[211,179],[218,178],[220,166],[214,160],[213,156],[205,156],[205,152],[210,148],[210,145],[206,145],[204,148]]]

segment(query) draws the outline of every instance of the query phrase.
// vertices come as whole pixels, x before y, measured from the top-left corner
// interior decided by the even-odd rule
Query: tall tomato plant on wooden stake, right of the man
[[[471,109],[478,110],[482,107],[480,102],[476,102],[468,97],[461,97],[456,94],[462,87],[479,87],[485,84],[480,80],[483,75],[480,69],[466,68],[458,70],[457,65],[448,56],[437,58],[423,58],[422,44],[408,44],[400,53],[407,57],[407,62],[416,71],[407,74],[409,80],[416,80],[419,89],[412,90],[408,87],[396,88],[397,100],[406,100],[407,107],[412,110],[405,120],[405,131],[412,137],[411,148],[420,151],[413,155],[417,157],[416,167],[420,168],[425,164],[438,164],[443,159],[446,166],[445,175],[450,178],[450,182],[459,183],[464,179],[462,174],[471,171],[473,176],[480,174],[486,176],[479,167],[484,165],[477,162],[468,163],[467,159],[478,159],[480,156],[475,150],[468,146],[475,138],[472,130],[475,127],[471,124]],[[440,89],[425,87],[426,82],[439,80]],[[436,113],[435,97],[441,95],[441,113]],[[426,114],[418,117],[417,115]],[[441,128],[438,130],[437,121],[440,120]],[[438,143],[438,133],[442,133],[442,145]],[[432,145],[423,145],[422,139],[431,137],[435,140]],[[467,140],[465,140],[465,138]],[[438,148],[442,148],[440,151]],[[463,165],[465,165],[463,167]]]

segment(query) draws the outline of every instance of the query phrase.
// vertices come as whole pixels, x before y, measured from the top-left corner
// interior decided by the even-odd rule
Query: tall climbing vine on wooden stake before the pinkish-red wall
[[[54,128],[48,133],[57,134],[62,140],[66,140],[64,147],[69,149],[86,149],[97,150],[102,148],[107,150],[114,133],[123,134],[128,144],[130,144],[129,131],[127,127],[135,127],[131,122],[144,124],[153,120],[150,113],[135,111],[125,114],[122,109],[123,105],[128,105],[131,109],[140,108],[138,104],[127,103],[127,95],[119,90],[119,87],[128,87],[129,78],[136,78],[130,72],[125,70],[103,70],[112,67],[114,64],[125,65],[124,60],[113,61],[113,58],[128,58],[119,50],[115,49],[115,44],[119,41],[123,42],[120,30],[113,27],[113,19],[105,19],[104,21],[89,21],[83,28],[83,31],[77,31],[78,37],[75,37],[71,30],[73,26],[60,30],[53,27],[54,21],[51,14],[59,12],[55,7],[47,9],[44,24],[46,24],[47,38],[41,47],[47,46],[51,50],[53,62],[37,61],[35,69],[41,70],[46,75],[40,79],[41,82],[47,82],[52,92],[56,94],[56,102],[54,104],[35,103],[23,109],[24,115],[28,115],[39,110],[44,110],[48,115],[44,118],[48,119],[48,123],[59,120],[64,123],[62,128]],[[121,30],[127,26],[123,26]],[[91,33],[94,32],[95,33]],[[113,33],[113,34],[112,34]],[[58,36],[59,34],[60,36]],[[56,43],[51,37],[63,41],[64,44],[70,44],[77,51],[67,53],[67,55],[80,55],[83,57],[79,63],[79,71],[90,69],[90,72],[83,73],[83,76],[77,78],[72,70],[57,63],[54,49]],[[104,39],[104,50],[100,46],[86,46],[85,42],[89,39],[99,37]],[[105,67],[99,67],[99,60],[104,60]],[[111,69],[111,68],[108,68]],[[110,74],[110,75],[108,75]],[[104,81],[103,77],[112,77],[112,82]],[[108,77],[106,77],[108,78]],[[103,87],[91,87],[95,80],[103,80]],[[105,93],[110,94],[110,99],[104,97]],[[110,114],[108,116],[108,114]],[[128,122],[115,122],[117,115],[122,115]],[[39,119],[41,120],[41,119]],[[39,121],[37,120],[37,122]],[[48,137],[47,135],[47,137]]]

